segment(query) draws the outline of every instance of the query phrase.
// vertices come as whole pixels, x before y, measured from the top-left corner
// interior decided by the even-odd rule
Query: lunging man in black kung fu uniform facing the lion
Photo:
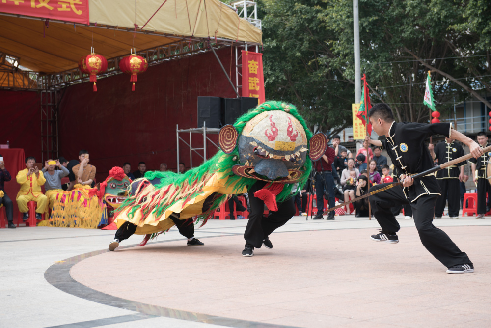
[[[432,223],[436,198],[440,195],[440,187],[435,175],[429,174],[417,180],[413,180],[411,175],[434,166],[425,145],[425,139],[434,134],[462,141],[475,158],[482,155],[481,147],[469,137],[452,129],[451,123],[396,123],[392,110],[386,104],[374,105],[368,117],[373,130],[379,136],[385,135],[386,139],[371,140],[367,136],[366,141],[385,149],[392,163],[404,172],[399,176],[401,180],[404,179],[404,188],[395,186],[368,197],[372,213],[382,227],[380,233],[372,235],[371,239],[378,242],[398,243],[396,233],[401,227],[392,214],[391,207],[411,204],[414,223],[423,246],[448,268],[447,273],[474,272],[474,266],[467,254]],[[376,191],[387,185],[382,183],[373,186],[369,191]]]

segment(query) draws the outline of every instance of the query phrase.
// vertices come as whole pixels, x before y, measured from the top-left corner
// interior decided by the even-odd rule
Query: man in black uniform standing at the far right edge
[[[488,136],[486,133],[479,132],[477,134],[477,142],[481,147],[486,148],[488,144]],[[488,182],[488,174],[486,165],[491,157],[491,152],[484,153],[478,159],[470,159],[472,167],[472,180],[476,183],[477,180],[477,216],[476,219],[484,219],[484,216],[489,211],[489,207],[486,206],[486,193],[488,194],[488,203],[491,198],[491,186]],[[477,178],[476,178],[477,169]]]

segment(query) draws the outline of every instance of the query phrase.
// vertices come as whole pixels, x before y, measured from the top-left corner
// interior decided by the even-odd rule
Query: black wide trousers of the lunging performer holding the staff
[[[373,186],[370,188],[370,192],[387,185],[388,183],[383,183]],[[437,195],[423,195],[411,203],[405,197],[402,187],[395,186],[368,198],[372,213],[383,232],[393,234],[401,228],[392,214],[391,208],[399,204],[410,204],[421,243],[438,261],[447,268],[457,264],[471,264],[467,254],[461,251],[445,232],[433,225],[436,197]]]

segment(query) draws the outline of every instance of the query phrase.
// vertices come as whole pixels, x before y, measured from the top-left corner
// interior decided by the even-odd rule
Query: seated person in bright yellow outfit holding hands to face
[[[15,200],[19,211],[23,214],[22,220],[26,221],[29,218],[27,203],[30,201],[37,203],[36,219],[40,220],[41,214],[46,211],[48,198],[41,191],[41,186],[44,185],[46,179],[43,172],[37,168],[34,157],[26,158],[26,168],[17,173],[16,180],[21,185],[21,190],[17,193]]]

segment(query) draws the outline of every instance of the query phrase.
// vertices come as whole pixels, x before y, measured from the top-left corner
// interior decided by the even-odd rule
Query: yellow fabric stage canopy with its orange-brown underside
[[[0,52],[33,71],[56,73],[76,68],[92,46],[109,59],[186,38],[262,44],[261,30],[218,0],[168,0],[158,10],[163,3],[88,0],[90,26],[13,15],[0,3]],[[132,33],[135,22],[137,33]]]

